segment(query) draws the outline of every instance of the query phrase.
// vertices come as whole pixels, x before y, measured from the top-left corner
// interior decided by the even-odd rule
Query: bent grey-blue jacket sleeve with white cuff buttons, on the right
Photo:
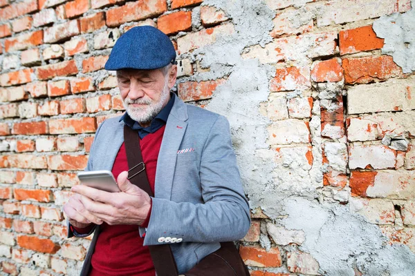
[[[205,140],[200,166],[204,204],[153,198],[144,245],[175,242],[228,242],[243,238],[250,226],[248,201],[230,139],[228,120],[219,116]],[[196,179],[195,179],[196,181]]]

